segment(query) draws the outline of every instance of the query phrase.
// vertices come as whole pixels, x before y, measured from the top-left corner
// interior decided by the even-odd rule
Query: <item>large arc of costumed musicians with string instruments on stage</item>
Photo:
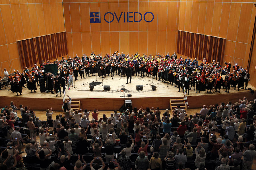
[[[54,94],[53,90],[57,93],[61,92],[61,86],[65,87],[65,82],[67,79],[78,80],[80,76],[81,79],[91,76],[102,77],[106,76],[126,76],[127,84],[131,83],[132,76],[144,76],[151,77],[152,79],[158,79],[164,83],[174,85],[174,87],[189,94],[189,90],[193,87],[196,93],[200,93],[200,90],[206,90],[207,93],[211,93],[211,90],[215,89],[215,92],[220,92],[220,88],[225,88],[227,93],[229,93],[230,87],[234,87],[234,90],[243,89],[245,83],[245,90],[250,75],[248,71],[238,66],[237,64],[231,65],[231,62],[225,62],[224,66],[213,60],[212,62],[207,62],[204,58],[203,62],[198,63],[198,60],[183,59],[181,56],[177,58],[176,53],[170,56],[167,53],[166,56],[160,55],[156,56],[143,54],[140,56],[138,52],[134,55],[125,55],[123,53],[114,52],[111,56],[106,54],[101,56],[100,54],[95,55],[94,52],[90,56],[83,54],[80,58],[77,54],[74,58],[69,57],[68,59],[62,58],[61,61],[56,59],[53,63],[58,65],[58,75],[53,75],[51,73],[44,73],[44,65],[51,64],[48,60],[47,62],[42,61],[40,67],[36,64],[31,70],[26,67],[22,73],[16,71],[14,74],[9,75],[11,82],[11,90],[18,92],[21,95],[22,87],[27,83],[27,88],[31,90],[31,93],[36,92],[36,83],[38,84],[39,78],[45,78],[46,89]],[[73,84],[72,84],[73,85]]]

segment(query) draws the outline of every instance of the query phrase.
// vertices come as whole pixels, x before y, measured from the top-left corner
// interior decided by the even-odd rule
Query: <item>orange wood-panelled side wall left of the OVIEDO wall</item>
[[[1,0],[0,11],[2,77],[24,69],[16,41],[65,31],[62,0]]]

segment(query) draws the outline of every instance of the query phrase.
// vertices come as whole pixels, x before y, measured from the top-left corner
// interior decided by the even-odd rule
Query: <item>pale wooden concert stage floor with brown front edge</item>
[[[100,77],[97,77],[97,80],[98,82],[102,82],[102,78]],[[118,91],[121,90],[122,85],[122,80],[118,75],[115,75],[113,79],[111,76],[106,76],[103,80],[103,84],[94,86],[93,91],[90,91],[89,83],[92,81],[96,81],[96,76],[88,77],[88,79],[84,79],[84,81],[80,80],[79,77],[79,80],[75,82],[75,88],[70,87],[71,90],[66,89],[66,95],[69,95],[73,101],[80,100],[81,109],[88,109],[90,111],[94,108],[97,108],[99,111],[119,110],[125,100],[132,100],[132,107],[140,108],[143,106],[144,109],[146,107],[160,107],[161,110],[164,110],[170,109],[169,99],[179,99],[184,97],[184,94],[178,92],[178,89],[174,88],[174,86],[168,84],[167,87],[167,83],[158,82],[156,79],[153,80],[154,84],[152,84],[156,86],[156,90],[152,91],[152,77],[149,81],[149,77],[139,79],[138,76],[133,76],[131,84],[125,84],[127,82],[126,77],[123,77],[123,85],[127,90],[125,96],[131,94],[131,97],[120,97],[123,96],[124,93]],[[110,85],[110,91],[104,91],[103,85]],[[137,91],[136,85],[144,85],[143,90]],[[248,85],[247,88],[255,90],[251,85]],[[0,91],[0,107],[4,107],[5,105],[10,106],[10,101],[14,101],[17,107],[22,104],[23,106],[29,106],[34,110],[45,110],[52,107],[53,111],[61,111],[63,95],[60,97],[58,94],[58,97],[55,97],[56,94],[40,93],[39,86],[37,86],[37,93],[33,92],[32,94],[27,88],[22,88],[23,92],[21,96],[16,96],[16,93],[12,93],[9,89]],[[237,89],[234,90],[232,87],[230,88],[229,94],[224,91],[226,91],[226,89],[221,89],[221,93],[213,92],[212,94],[207,94],[207,91],[196,93],[196,91],[193,91],[192,87],[189,95],[187,95],[189,108],[200,108],[204,104],[209,106],[222,101],[225,103],[228,101],[235,102],[244,96],[250,101],[256,97],[256,93],[251,94],[250,90],[241,89],[240,91],[237,91]]]

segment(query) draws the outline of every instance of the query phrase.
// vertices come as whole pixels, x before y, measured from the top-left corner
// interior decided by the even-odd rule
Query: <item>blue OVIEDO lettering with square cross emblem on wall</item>
[[[138,18],[135,18],[135,14],[139,15]],[[152,15],[152,19],[148,21],[146,14]],[[117,22],[141,22],[142,20],[152,22],[154,20],[154,14],[152,12],[145,12],[145,14],[141,14],[140,12],[121,12],[118,16],[115,12],[106,12],[103,18],[107,23],[111,23],[114,20],[117,20]],[[90,12],[90,23],[100,23],[100,19],[100,12]]]

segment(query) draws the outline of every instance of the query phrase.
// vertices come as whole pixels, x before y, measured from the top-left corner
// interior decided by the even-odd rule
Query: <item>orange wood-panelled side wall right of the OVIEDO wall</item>
[[[253,0],[181,1],[179,30],[226,38],[224,61],[248,67],[256,8]],[[208,61],[209,62],[209,61]]]

